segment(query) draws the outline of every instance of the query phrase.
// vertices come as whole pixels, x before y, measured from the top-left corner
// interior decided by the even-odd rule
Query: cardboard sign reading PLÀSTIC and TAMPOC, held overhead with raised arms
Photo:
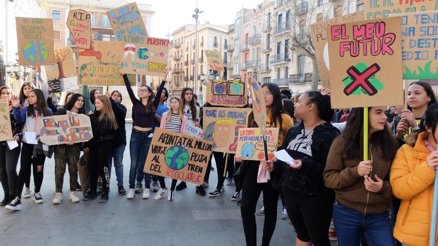
[[[147,37],[144,43],[124,42],[117,52],[121,55],[122,73],[163,76],[167,68],[169,40]]]

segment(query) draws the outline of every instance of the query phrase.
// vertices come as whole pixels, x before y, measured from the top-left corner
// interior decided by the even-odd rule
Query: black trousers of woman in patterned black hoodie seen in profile
[[[283,195],[297,238],[303,242],[312,242],[314,246],[330,246],[328,232],[333,214],[334,195],[300,196],[291,194],[284,188]]]

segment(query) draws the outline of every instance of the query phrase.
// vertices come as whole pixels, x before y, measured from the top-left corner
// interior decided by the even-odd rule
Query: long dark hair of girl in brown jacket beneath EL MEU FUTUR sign
[[[363,108],[353,108],[350,111],[347,126],[341,136],[345,140],[344,157],[349,160],[363,159]],[[370,143],[380,147],[384,159],[394,159],[398,144],[387,124],[383,130],[371,135]]]

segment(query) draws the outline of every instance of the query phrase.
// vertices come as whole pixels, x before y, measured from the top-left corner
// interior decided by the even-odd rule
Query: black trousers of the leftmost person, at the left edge
[[[20,146],[13,150],[9,150],[6,144],[0,145],[0,182],[3,187],[4,194],[8,194],[10,198],[15,195],[17,185],[17,164],[20,156]]]

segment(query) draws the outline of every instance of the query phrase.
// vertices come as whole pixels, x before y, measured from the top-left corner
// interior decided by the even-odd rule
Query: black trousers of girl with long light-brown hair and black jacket
[[[90,191],[97,192],[98,177],[102,178],[102,192],[109,191],[109,154],[113,152],[112,142],[105,141],[93,144],[90,147],[90,162],[88,172],[90,175]]]

